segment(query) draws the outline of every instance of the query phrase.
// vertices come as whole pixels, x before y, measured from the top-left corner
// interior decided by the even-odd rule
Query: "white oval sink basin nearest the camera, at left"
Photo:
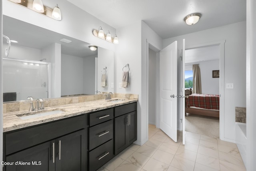
[[[30,113],[22,113],[17,116],[22,120],[27,120],[27,119],[34,119],[34,118],[48,116],[48,115],[56,115],[64,112],[65,111],[63,109],[55,109],[50,111],[34,111]]]

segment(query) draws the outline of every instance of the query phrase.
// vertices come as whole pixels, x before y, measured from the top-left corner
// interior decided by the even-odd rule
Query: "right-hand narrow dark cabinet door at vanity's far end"
[[[127,145],[132,144],[134,141],[137,140],[137,113],[136,111],[128,113],[128,118],[129,118],[129,124],[128,124],[128,129],[127,129]]]

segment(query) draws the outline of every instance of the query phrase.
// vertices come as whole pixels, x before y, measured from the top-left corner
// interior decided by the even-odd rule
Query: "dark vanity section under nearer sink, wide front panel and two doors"
[[[14,162],[4,170],[86,170],[86,120],[85,115],[80,115],[4,133],[4,160]]]

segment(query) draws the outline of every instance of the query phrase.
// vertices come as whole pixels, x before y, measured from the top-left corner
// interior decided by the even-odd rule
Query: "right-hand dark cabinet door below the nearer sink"
[[[87,169],[86,129],[56,139],[56,171]]]

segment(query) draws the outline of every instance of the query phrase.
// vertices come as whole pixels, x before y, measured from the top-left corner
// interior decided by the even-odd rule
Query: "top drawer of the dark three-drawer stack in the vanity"
[[[99,123],[102,123],[104,121],[108,121],[113,118],[113,108],[103,110],[103,111],[98,111],[95,113],[90,114],[90,126],[97,125]]]

